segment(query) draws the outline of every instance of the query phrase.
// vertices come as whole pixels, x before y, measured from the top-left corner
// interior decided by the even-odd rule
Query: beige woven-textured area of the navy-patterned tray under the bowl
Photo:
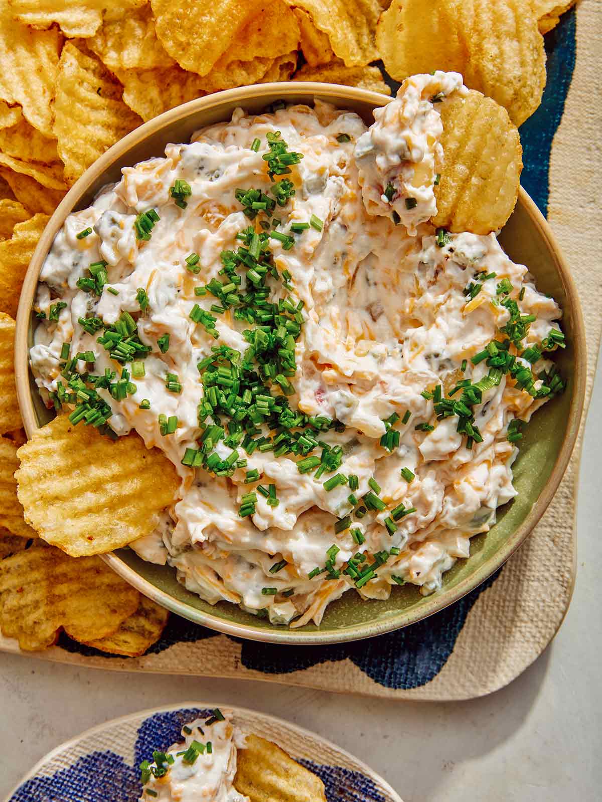
[[[602,3],[582,0],[576,26],[576,67],[551,148],[547,213],[572,269],[583,308],[588,342],[587,409],[602,331],[602,268],[598,256],[602,225],[602,107],[598,101]],[[340,656],[333,662],[327,658],[329,662],[297,670],[291,670],[297,668],[293,665],[281,673],[266,673],[248,667],[244,647],[224,636],[175,642],[156,654],[136,659],[78,654],[58,646],[39,656],[114,670],[254,678],[390,699],[468,699],[495,691],[541,654],[568,610],[576,569],[576,481],[583,426],[584,422],[571,464],[542,520],[499,577],[476,598],[451,654],[441,660],[442,668],[418,687],[404,689],[400,683],[376,682],[370,672],[358,667],[357,659]],[[17,646],[0,638],[0,649],[16,651]],[[386,659],[383,655],[383,662]],[[386,666],[383,670],[386,673]]]

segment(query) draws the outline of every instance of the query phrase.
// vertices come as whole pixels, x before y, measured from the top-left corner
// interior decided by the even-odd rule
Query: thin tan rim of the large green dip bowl
[[[14,368],[18,403],[28,438],[31,437],[33,432],[38,428],[30,391],[29,360],[27,357],[30,310],[38,285],[38,276],[42,268],[42,261],[46,257],[46,253],[50,249],[52,241],[54,241],[55,235],[63,225],[65,218],[71,213],[71,209],[73,209],[87,191],[87,188],[98,180],[99,176],[110,168],[124,152],[127,152],[133,145],[143,142],[147,137],[156,134],[156,132],[161,129],[181,122],[188,118],[188,116],[194,115],[200,111],[210,111],[224,104],[231,104],[234,102],[245,103],[248,100],[263,98],[265,98],[265,103],[267,104],[273,102],[274,95],[283,99],[286,99],[287,95],[293,95],[296,98],[295,102],[301,102],[299,98],[307,98],[308,101],[312,101],[316,98],[324,99],[327,102],[335,103],[339,107],[344,107],[345,102],[367,103],[373,107],[378,107],[390,103],[392,100],[392,98],[387,95],[381,95],[378,92],[368,91],[366,89],[359,89],[358,87],[301,81],[263,83],[249,87],[228,89],[227,91],[216,92],[213,95],[206,95],[202,98],[191,100],[181,106],[165,111],[163,114],[149,120],[147,123],[144,123],[139,126],[139,128],[127,134],[122,140],[119,140],[119,142],[109,148],[107,152],[103,153],[103,156],[100,156],[94,164],[91,164],[91,167],[83,173],[83,176],[81,176],[73,187],[71,187],[69,192],[67,192],[67,195],[63,198],[63,201],[61,201],[57,209],[55,209],[55,213],[53,213],[46,224],[46,228],[31,257],[30,265],[27,269],[22,286],[15,332]],[[188,618],[188,620],[200,626],[206,626],[211,630],[216,630],[235,638],[244,638],[258,642],[283,643],[292,646],[317,646],[321,644],[353,642],[362,640],[363,638],[373,638],[377,635],[386,634],[393,630],[398,630],[402,627],[422,621],[422,619],[434,613],[438,613],[440,610],[459,601],[460,598],[481,585],[492,573],[495,573],[496,570],[501,568],[515,550],[519,548],[519,545],[521,545],[531,533],[532,529],[534,529],[543,515],[543,512],[545,512],[552,496],[560,484],[560,480],[564,476],[568,461],[572,455],[572,450],[575,446],[580,427],[585,399],[587,371],[585,330],[575,282],[572,279],[568,264],[560,251],[556,237],[551,232],[547,221],[535,205],[535,202],[531,200],[531,197],[527,195],[527,192],[525,192],[522,187],[519,188],[517,204],[523,206],[531,223],[535,225],[535,228],[539,229],[539,233],[546,243],[548,252],[551,253],[553,261],[556,262],[556,267],[567,295],[566,307],[572,312],[574,329],[572,338],[572,346],[575,354],[574,387],[568,411],[566,433],[547,483],[539,493],[539,496],[536,498],[535,503],[527,513],[522,524],[520,524],[515,529],[515,532],[512,533],[511,537],[508,537],[507,541],[500,546],[495,555],[484,562],[479,569],[476,569],[470,577],[465,577],[455,588],[444,591],[440,595],[433,594],[428,597],[426,602],[421,606],[416,606],[410,611],[401,610],[397,613],[390,614],[386,620],[380,622],[360,622],[343,626],[338,630],[301,632],[299,630],[285,629],[277,626],[261,628],[253,626],[252,624],[230,622],[212,613],[205,613],[202,610],[189,606],[186,602],[180,602],[176,597],[157,588],[150,581],[141,577],[134,569],[130,568],[130,566],[115,553],[102,554],[100,557],[102,557],[119,576],[123,577],[123,579],[138,589],[140,593],[143,593],[145,596],[151,598],[152,601],[164,606],[172,613],[176,613],[183,618]]]

